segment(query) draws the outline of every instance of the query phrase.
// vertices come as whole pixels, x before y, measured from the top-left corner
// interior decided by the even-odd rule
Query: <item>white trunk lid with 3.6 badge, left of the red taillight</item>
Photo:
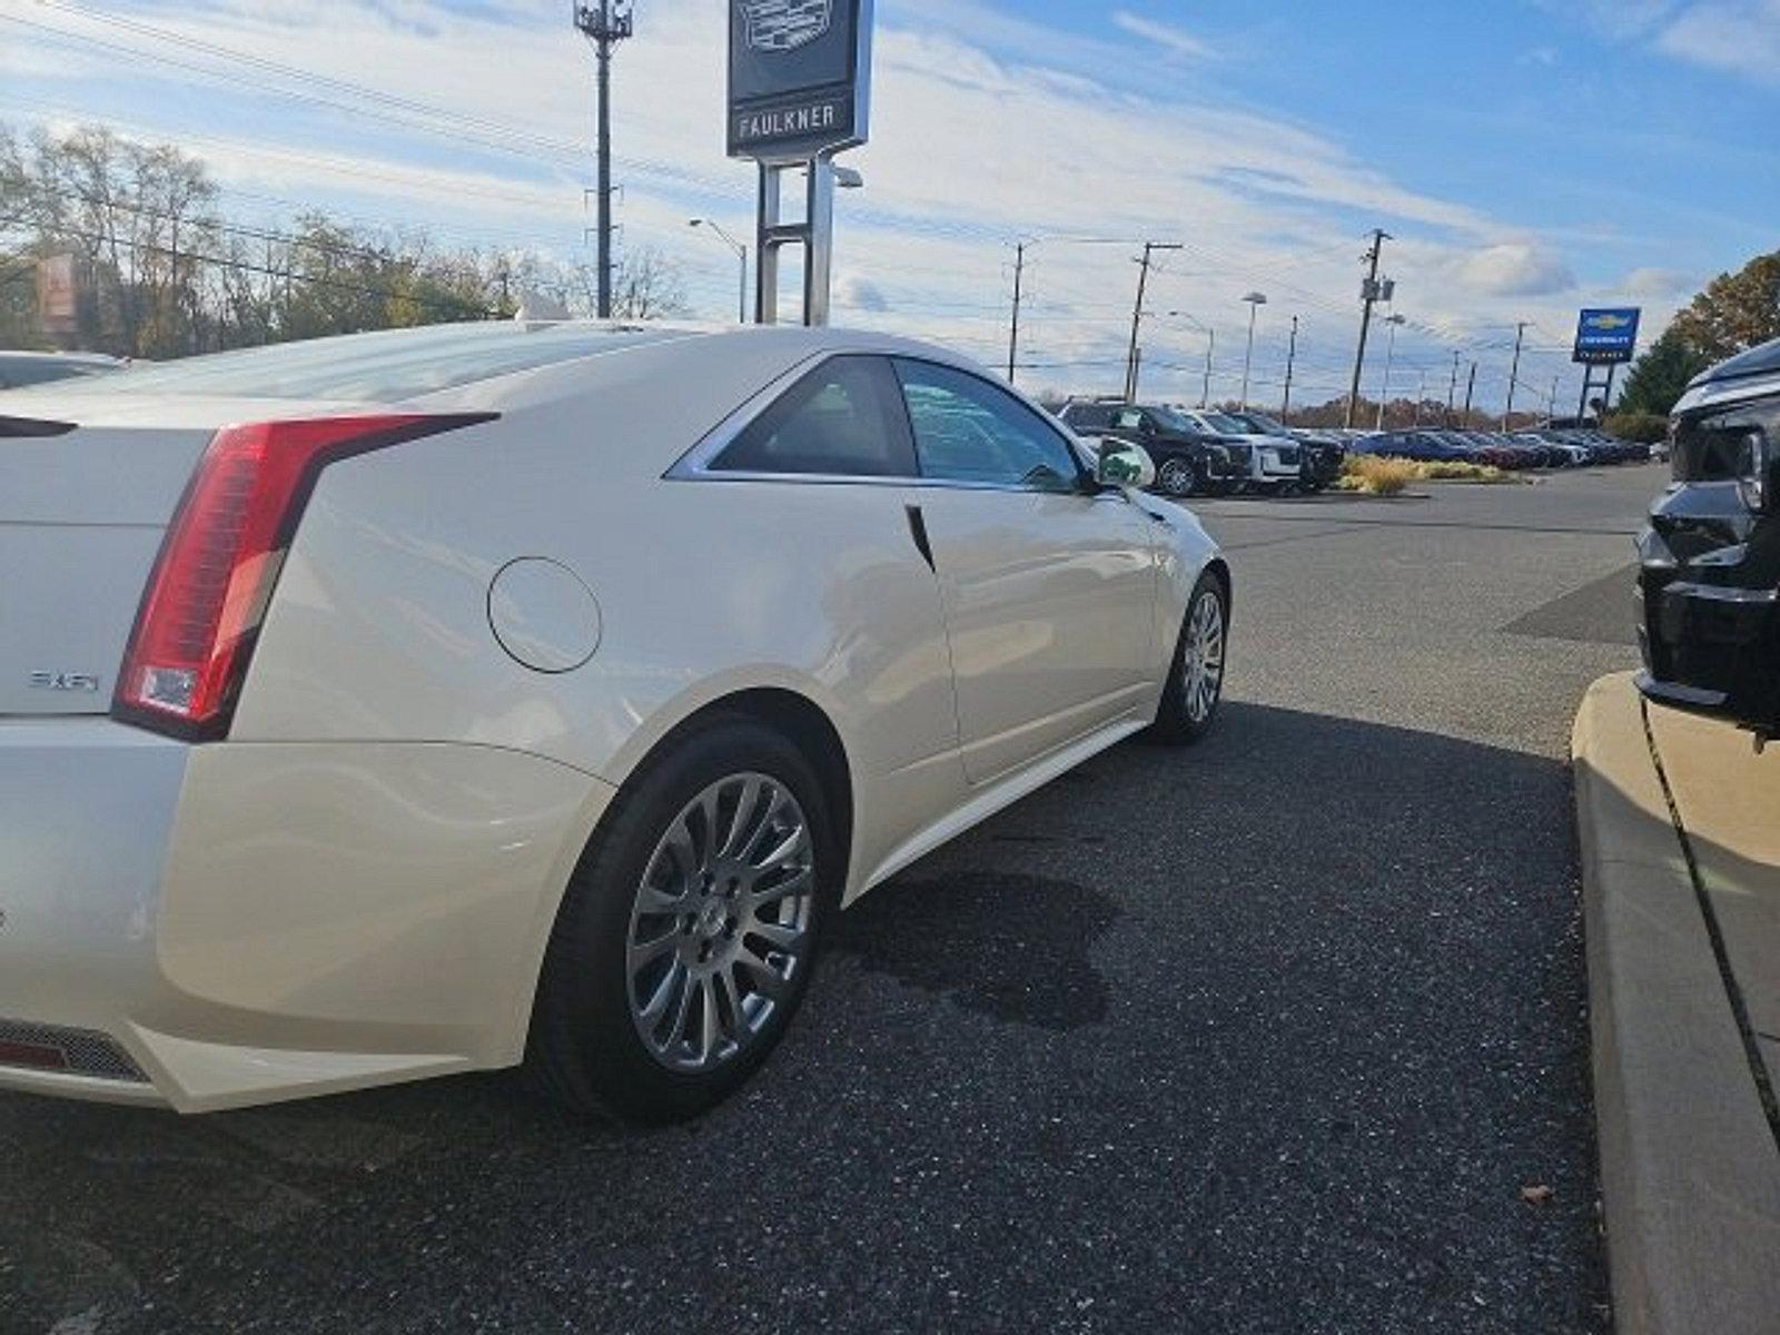
[[[0,393],[0,716],[110,708],[137,603],[205,445],[228,422],[292,409],[315,406]]]

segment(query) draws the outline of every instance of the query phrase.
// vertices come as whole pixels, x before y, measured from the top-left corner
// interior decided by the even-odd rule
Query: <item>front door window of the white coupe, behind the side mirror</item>
[[[1080,465],[1043,417],[988,381],[931,361],[895,363],[922,477],[1073,491]]]

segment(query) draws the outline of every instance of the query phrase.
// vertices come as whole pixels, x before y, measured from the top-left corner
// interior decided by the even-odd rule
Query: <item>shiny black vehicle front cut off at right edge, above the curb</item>
[[[1780,735],[1780,338],[1670,418],[1673,484],[1638,536],[1638,689]]]

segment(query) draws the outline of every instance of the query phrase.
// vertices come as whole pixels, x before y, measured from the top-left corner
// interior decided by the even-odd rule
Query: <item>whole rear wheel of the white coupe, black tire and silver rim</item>
[[[628,1121],[719,1104],[803,1002],[840,867],[821,780],[785,737],[723,716],[671,742],[570,878],[532,1007],[534,1084]]]

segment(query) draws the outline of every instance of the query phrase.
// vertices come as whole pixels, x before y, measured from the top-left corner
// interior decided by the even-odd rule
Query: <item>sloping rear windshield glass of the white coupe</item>
[[[93,377],[80,392],[399,402],[657,338],[634,326],[440,324],[132,367]]]

